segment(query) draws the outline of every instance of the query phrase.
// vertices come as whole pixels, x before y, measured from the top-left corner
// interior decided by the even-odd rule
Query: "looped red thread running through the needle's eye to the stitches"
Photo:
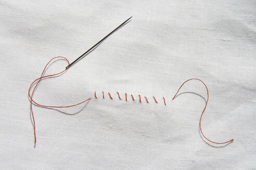
[[[40,82],[42,79],[44,79],[44,78],[50,78],[50,77],[53,77],[53,76],[60,75],[60,74],[62,74],[62,73],[64,73],[64,72],[66,72],[66,70],[69,68],[69,67],[68,67],[68,68],[66,68],[65,70],[63,70],[62,72],[59,72],[59,73],[56,73],[56,74],[53,74],[53,75],[43,76],[44,73],[45,73],[46,67],[49,65],[49,63],[50,63],[52,60],[57,59],[57,58],[65,59],[65,60],[68,62],[68,65],[69,65],[68,59],[64,58],[63,56],[57,56],[57,57],[51,59],[51,60],[46,64],[46,66],[44,67],[44,70],[43,70],[43,72],[42,72],[40,78],[35,79],[35,80],[31,83],[31,85],[30,85],[30,87],[29,87],[30,109],[31,109],[31,115],[32,115],[33,124],[34,124],[34,138],[35,138],[34,144],[36,144],[36,133],[35,133],[35,119],[34,119],[34,114],[33,114],[33,109],[32,109],[32,103],[34,103],[34,104],[37,105],[37,106],[42,106],[42,107],[67,108],[67,107],[73,107],[73,106],[80,105],[80,104],[82,104],[82,103],[84,103],[84,102],[86,102],[86,101],[88,101],[88,100],[91,99],[91,98],[88,98],[87,100],[85,100],[85,101],[83,101],[83,102],[80,102],[80,103],[78,103],[78,104],[71,105],[71,106],[46,106],[46,105],[38,104],[38,103],[36,103],[36,102],[33,100],[33,95],[34,95],[35,89],[36,89],[36,87],[39,85],[39,82]],[[38,80],[38,81],[37,81],[37,80]],[[32,88],[33,84],[34,84],[36,81],[37,81],[37,83],[36,83],[35,87],[33,88],[32,94],[30,95],[31,88]]]

